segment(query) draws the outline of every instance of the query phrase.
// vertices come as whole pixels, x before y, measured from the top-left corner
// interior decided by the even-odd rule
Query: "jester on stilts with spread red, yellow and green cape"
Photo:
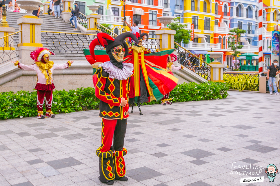
[[[138,37],[139,44],[134,44],[129,49],[128,53],[130,55],[126,58],[126,62],[134,65],[134,74],[130,78],[128,97],[129,104],[132,104],[131,113],[133,113],[135,102],[139,108],[140,115],[143,115],[140,106],[145,102],[161,100],[163,95],[173,90],[177,85],[178,79],[166,69],[167,54],[157,56],[157,52],[151,53],[149,49],[142,45],[143,37],[146,36],[146,40],[148,40],[149,35],[147,33],[136,33],[135,35]]]

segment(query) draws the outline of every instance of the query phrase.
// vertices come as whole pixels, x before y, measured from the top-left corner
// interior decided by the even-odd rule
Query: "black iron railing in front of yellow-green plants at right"
[[[229,84],[233,90],[259,90],[259,74],[247,73],[225,73],[223,80]]]

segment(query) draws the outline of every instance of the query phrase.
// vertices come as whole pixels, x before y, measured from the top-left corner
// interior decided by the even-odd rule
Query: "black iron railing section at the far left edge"
[[[0,38],[0,63],[19,57],[16,51],[20,34],[21,31],[17,31]]]

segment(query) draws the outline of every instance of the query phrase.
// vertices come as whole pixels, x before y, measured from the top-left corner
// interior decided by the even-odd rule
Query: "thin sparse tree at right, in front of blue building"
[[[240,37],[241,34],[244,34],[245,32],[246,30],[234,28],[228,33],[230,35],[228,37],[228,47],[234,51],[232,55],[235,58],[235,61],[237,60],[237,55],[240,54],[238,50],[243,48],[243,45],[240,44]],[[230,41],[231,39],[232,41]],[[235,67],[237,67],[237,62],[235,62]]]

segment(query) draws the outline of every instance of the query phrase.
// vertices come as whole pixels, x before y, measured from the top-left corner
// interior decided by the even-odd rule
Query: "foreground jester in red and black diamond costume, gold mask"
[[[105,47],[109,56],[109,61],[99,64],[95,71],[96,79],[93,79],[95,95],[100,99],[99,117],[102,118],[101,146],[96,150],[99,157],[99,180],[108,185],[112,185],[113,180],[128,180],[125,177],[126,165],[123,159],[127,150],[123,148],[123,144],[129,115],[128,80],[133,74],[133,64],[123,63],[123,58],[128,55],[128,46],[124,41],[127,37],[138,43],[137,37],[129,32],[120,34],[115,39],[108,34],[99,33],[97,39],[90,43],[93,60],[96,60],[95,52],[98,53],[94,51],[97,45]]]

